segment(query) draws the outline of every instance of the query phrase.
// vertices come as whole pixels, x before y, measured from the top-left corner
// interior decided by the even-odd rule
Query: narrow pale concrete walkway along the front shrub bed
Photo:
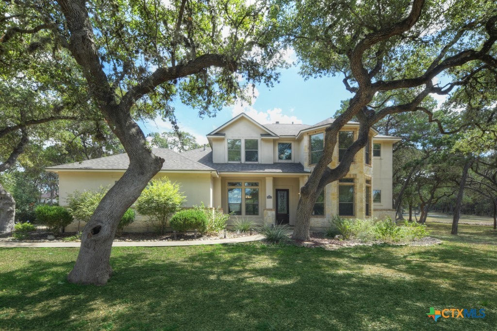
[[[215,244],[234,244],[247,243],[249,241],[261,240],[261,235],[248,237],[226,238],[226,239],[209,239],[209,240],[190,240],[190,241],[115,241],[112,247],[164,247],[164,246],[196,246],[196,245],[215,245]],[[61,243],[61,242],[44,242],[44,243],[16,243],[12,241],[0,241],[0,247],[80,247],[81,243]]]

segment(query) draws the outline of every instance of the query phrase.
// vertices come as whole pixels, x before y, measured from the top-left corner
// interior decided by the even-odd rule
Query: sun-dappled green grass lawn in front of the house
[[[104,287],[67,283],[77,249],[0,249],[0,329],[496,330],[497,233],[429,228],[443,245],[114,248]]]

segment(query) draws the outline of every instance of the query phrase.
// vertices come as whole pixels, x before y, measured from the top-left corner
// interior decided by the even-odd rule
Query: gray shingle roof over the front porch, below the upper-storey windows
[[[199,163],[204,164],[207,167],[216,169],[218,172],[264,172],[264,173],[302,173],[307,174],[308,171],[304,171],[304,166],[300,163],[272,163],[272,164],[261,164],[261,163],[213,163],[212,162],[212,149],[203,148],[188,150],[182,152],[181,155]]]

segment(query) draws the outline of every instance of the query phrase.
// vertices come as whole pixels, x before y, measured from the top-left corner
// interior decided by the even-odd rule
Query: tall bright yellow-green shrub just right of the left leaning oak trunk
[[[171,183],[168,179],[153,180],[136,200],[136,210],[148,216],[148,221],[164,234],[167,219],[181,208],[185,200],[176,183]]]

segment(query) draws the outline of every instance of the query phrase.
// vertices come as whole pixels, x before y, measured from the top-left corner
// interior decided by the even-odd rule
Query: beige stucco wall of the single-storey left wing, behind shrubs
[[[96,172],[96,171],[69,171],[59,173],[59,197],[60,204],[67,205],[68,194],[75,191],[98,190],[100,186],[110,188],[115,181],[121,178],[124,172]],[[215,182],[211,181],[210,173],[159,173],[154,179],[167,177],[171,182],[176,182],[180,186],[180,192],[186,196],[185,207],[200,205],[201,202],[208,207],[212,207],[212,194],[215,190]],[[125,231],[153,231],[146,218],[137,214],[136,220]],[[80,224],[80,230],[84,224]],[[73,222],[66,228],[72,232],[78,230],[78,222]]]

